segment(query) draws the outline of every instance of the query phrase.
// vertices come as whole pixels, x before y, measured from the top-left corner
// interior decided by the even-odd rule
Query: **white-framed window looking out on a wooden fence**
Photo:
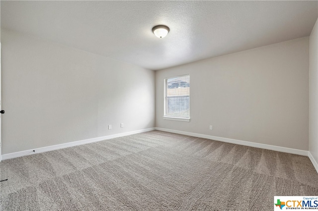
[[[164,79],[164,119],[190,121],[190,76]]]

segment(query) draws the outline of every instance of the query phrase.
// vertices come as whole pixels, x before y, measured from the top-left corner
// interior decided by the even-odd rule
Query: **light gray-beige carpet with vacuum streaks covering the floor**
[[[1,162],[1,209],[273,210],[317,196],[309,158],[151,131]]]

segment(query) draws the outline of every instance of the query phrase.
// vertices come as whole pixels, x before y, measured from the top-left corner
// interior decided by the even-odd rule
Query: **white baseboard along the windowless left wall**
[[[69,143],[65,143],[65,144],[58,144],[58,145],[53,145],[53,146],[48,146],[48,147],[41,147],[41,148],[32,149],[32,150],[25,150],[25,151],[20,151],[20,152],[16,152],[16,153],[9,153],[9,154],[2,155],[1,160],[18,158],[18,157],[22,157],[22,156],[37,154],[37,153],[44,153],[44,152],[48,152],[48,151],[52,151],[52,150],[58,150],[58,149],[63,149],[63,148],[67,148],[67,147],[74,147],[74,146],[78,146],[78,145],[82,145],[82,144],[88,144],[88,143],[92,143],[92,142],[98,142],[98,141],[103,141],[103,140],[107,140],[107,139],[113,139],[113,138],[133,135],[133,134],[137,134],[137,133],[144,133],[144,132],[148,132],[148,131],[152,131],[152,130],[155,130],[155,128],[153,127],[153,128],[142,129],[142,130],[135,130],[135,131],[126,132],[126,133],[119,133],[119,134],[114,134],[114,135],[109,135],[109,136],[102,136],[102,137],[97,137],[97,138],[92,138],[92,139],[85,139],[85,140],[81,140],[81,141],[69,142]],[[35,152],[33,152],[33,150]]]

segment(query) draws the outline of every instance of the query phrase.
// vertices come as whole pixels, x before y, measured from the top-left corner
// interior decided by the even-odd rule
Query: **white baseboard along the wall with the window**
[[[291,154],[296,154],[301,156],[308,156],[308,151],[305,151],[305,150],[297,150],[297,149],[292,149],[287,147],[278,147],[278,146],[273,146],[268,144],[259,144],[254,142],[228,139],[223,137],[210,136],[210,135],[204,135],[199,133],[191,133],[191,132],[185,132],[185,131],[179,131],[179,130],[170,130],[170,129],[159,128],[159,127],[156,127],[156,130],[170,132],[170,133],[177,133],[177,134],[187,135],[187,136],[194,136],[194,137],[204,138],[204,139],[211,139],[215,141],[222,141],[222,142],[227,142],[232,144],[239,144],[239,145],[244,145],[249,147],[256,147],[256,148],[261,148],[266,150],[274,150],[274,151],[283,152],[283,153],[291,153]]]

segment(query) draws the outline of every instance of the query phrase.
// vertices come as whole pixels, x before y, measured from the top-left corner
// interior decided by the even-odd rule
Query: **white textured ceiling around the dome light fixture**
[[[1,0],[1,28],[153,70],[309,36],[317,17],[317,0]]]

